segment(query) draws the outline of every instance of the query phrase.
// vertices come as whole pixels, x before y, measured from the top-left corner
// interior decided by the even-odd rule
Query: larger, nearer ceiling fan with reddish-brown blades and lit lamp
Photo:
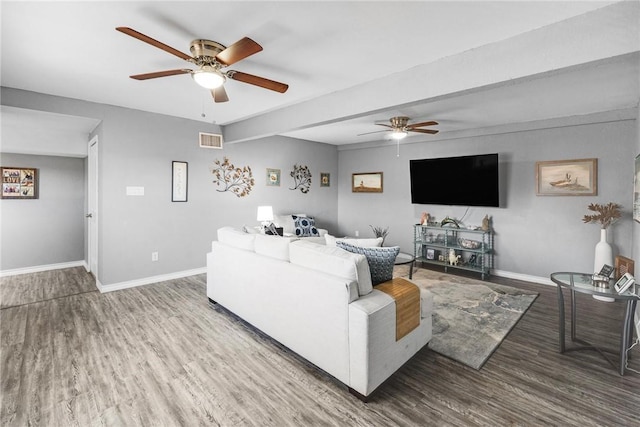
[[[254,76],[252,74],[235,70],[222,70],[223,68],[235,64],[236,62],[262,50],[262,46],[251,40],[249,37],[244,37],[229,47],[211,40],[193,40],[189,47],[191,52],[191,56],[189,56],[129,27],[117,27],[116,30],[198,66],[197,70],[180,68],[146,74],[136,74],[130,76],[132,79],[148,80],[158,77],[175,76],[178,74],[191,74],[191,77],[193,77],[193,80],[195,80],[196,83],[211,90],[211,95],[215,102],[229,101],[229,97],[227,96],[227,92],[223,86],[227,79],[237,80],[242,83],[248,83],[250,85],[259,86],[280,93],[284,93],[289,89],[289,85],[287,84],[265,79],[264,77]]]

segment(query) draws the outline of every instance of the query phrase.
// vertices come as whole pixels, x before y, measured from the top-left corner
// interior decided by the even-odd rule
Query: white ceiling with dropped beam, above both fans
[[[260,127],[336,145],[381,140],[358,134],[394,115],[437,120],[441,136],[637,106],[639,61],[628,53],[639,50],[638,4],[614,3],[2,1],[1,84],[214,122],[228,141],[261,136]],[[185,53],[195,38],[251,37],[264,50],[230,68],[290,88],[228,81],[230,102],[215,104],[188,75],[132,80],[191,67],[117,26]],[[26,120],[7,111],[3,126]]]

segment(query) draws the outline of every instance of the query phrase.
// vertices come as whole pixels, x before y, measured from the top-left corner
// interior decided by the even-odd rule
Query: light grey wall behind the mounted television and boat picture
[[[549,127],[545,127],[549,126]],[[462,218],[480,225],[488,214],[493,219],[495,268],[519,275],[548,278],[554,271],[593,269],[594,246],[599,227],[584,224],[589,203],[617,202],[624,219],[610,229],[614,255],[632,254],[633,167],[637,145],[635,120],[572,125],[554,120],[539,123],[539,129],[461,137],[370,149],[339,152],[338,221],[340,233],[353,235],[369,224],[389,226],[386,242],[413,252],[412,224],[423,211]],[[412,205],[409,159],[435,158],[498,152],[501,162],[501,207],[477,208]],[[535,162],[539,160],[598,159],[598,195],[595,197],[543,197],[535,194]],[[353,172],[384,172],[384,193],[352,193]],[[446,186],[446,180],[432,185]]]

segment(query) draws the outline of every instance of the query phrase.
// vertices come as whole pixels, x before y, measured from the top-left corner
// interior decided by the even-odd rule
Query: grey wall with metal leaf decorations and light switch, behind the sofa
[[[223,150],[203,149],[198,147],[198,133],[219,133],[218,126],[10,88],[2,88],[1,100],[3,105],[101,120],[94,134],[100,144],[102,285],[204,267],[215,231],[224,225],[258,225],[259,205],[272,205],[276,213],[305,212],[317,216],[321,227],[337,227],[337,188],[319,187],[320,172],[337,173],[334,146],[274,137],[226,145]],[[236,166],[251,166],[256,185],[249,196],[216,191],[211,168],[223,156]],[[171,202],[173,160],[189,163],[186,203]],[[308,194],[288,189],[294,163],[311,169]],[[282,170],[280,187],[266,187],[266,168]],[[145,195],[127,196],[127,186],[144,187]],[[159,253],[159,261],[151,261],[152,252]]]

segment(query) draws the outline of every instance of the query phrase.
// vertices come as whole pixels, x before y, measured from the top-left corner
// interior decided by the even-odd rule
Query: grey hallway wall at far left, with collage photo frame
[[[38,169],[39,197],[0,200],[0,270],[84,260],[85,164],[70,157],[0,154]]]

